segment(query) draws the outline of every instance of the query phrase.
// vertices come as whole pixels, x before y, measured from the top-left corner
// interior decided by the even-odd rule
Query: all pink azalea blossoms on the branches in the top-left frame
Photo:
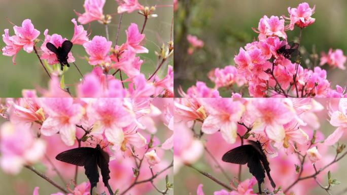
[[[140,10],[141,13],[139,13],[146,17],[146,21],[149,17],[155,16],[155,14],[152,14],[155,7],[144,7],[140,5],[137,0],[118,0],[117,2],[119,4],[119,13],[131,13],[135,10]],[[105,0],[85,0],[85,13],[80,14],[76,12],[78,16],[77,21],[80,24],[87,24],[97,20],[107,26],[111,22],[112,17],[111,15],[105,16],[103,14],[103,6],[105,3]],[[56,48],[59,48],[62,46],[62,43],[68,39],[58,34],[49,35],[48,29],[46,29],[44,31],[45,39],[39,50],[35,45],[39,43],[38,37],[40,31],[34,29],[34,26],[29,19],[24,20],[21,27],[14,26],[14,36],[9,36],[9,30],[5,29],[3,40],[6,43],[6,47],[4,47],[2,51],[4,55],[13,56],[14,63],[16,54],[21,50],[21,48],[24,48],[28,53],[34,49],[37,55],[40,56],[40,62],[48,76],[51,78],[48,90],[39,89],[42,96],[73,96],[67,85],[74,85],[77,86],[76,96],[79,97],[173,97],[173,68],[167,64],[167,74],[163,73],[163,76],[157,74],[165,60],[172,56],[172,45],[163,47],[160,52],[161,54],[158,54],[159,60],[162,61],[161,65],[158,65],[157,67],[158,70],[155,70],[152,75],[148,76],[148,78],[147,75],[145,76],[144,73],[141,72],[141,66],[144,60],[141,59],[138,54],[149,53],[149,50],[144,46],[146,35],[142,32],[146,22],[143,25],[142,31],[138,29],[136,23],[130,23],[128,28],[125,30],[126,42],[117,45],[108,40],[108,27],[106,27],[107,38],[94,36],[89,40],[90,34],[85,30],[83,25],[79,25],[75,18],[71,21],[74,24],[74,35],[71,42],[74,47],[76,47],[76,45],[82,45],[84,47],[88,55],[88,57],[85,56],[85,59],[94,67],[93,71],[87,73],[85,76],[80,73],[82,79],[79,83],[74,84],[65,84],[64,73],[68,71],[68,68],[60,71],[60,69],[55,66],[55,64],[59,64],[57,54],[50,51],[46,46],[47,43],[52,43]],[[117,33],[119,36],[120,32]],[[72,51],[67,55],[67,62],[74,63],[74,66],[78,69]],[[46,67],[45,64],[47,63],[54,66]],[[166,63],[164,66],[166,66]],[[118,76],[116,74],[118,72],[120,79],[116,79]],[[32,94],[36,94],[36,92],[31,92]],[[23,93],[25,92],[23,91]]]

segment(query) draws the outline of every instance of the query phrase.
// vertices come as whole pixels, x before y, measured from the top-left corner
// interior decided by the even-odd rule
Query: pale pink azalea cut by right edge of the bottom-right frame
[[[331,113],[330,124],[336,126],[335,131],[324,141],[326,145],[334,145],[347,129],[347,99],[341,98],[338,110]]]

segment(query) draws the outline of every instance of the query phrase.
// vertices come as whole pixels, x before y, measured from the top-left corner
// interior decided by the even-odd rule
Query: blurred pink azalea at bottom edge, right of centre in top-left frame
[[[132,79],[128,90],[132,98],[148,98],[155,93],[155,87],[146,80],[143,74]]]

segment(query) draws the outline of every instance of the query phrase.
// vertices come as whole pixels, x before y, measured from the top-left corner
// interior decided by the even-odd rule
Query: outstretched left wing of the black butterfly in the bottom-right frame
[[[251,145],[238,146],[225,153],[222,160],[227,163],[245,165],[253,154],[253,150],[254,148]]]

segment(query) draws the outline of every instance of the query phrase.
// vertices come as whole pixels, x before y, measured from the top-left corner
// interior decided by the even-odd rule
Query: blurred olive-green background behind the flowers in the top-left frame
[[[146,77],[152,74],[157,66],[157,56],[154,51],[159,51],[163,43],[170,40],[171,20],[172,20],[172,5],[171,0],[140,0],[140,4],[144,6],[155,6],[157,9],[155,14],[157,18],[150,18],[145,28],[146,44],[149,49],[148,54],[141,54],[144,60],[141,72]],[[10,36],[14,35],[13,25],[7,21],[7,18],[21,26],[24,19],[31,19],[34,27],[41,31],[40,40],[44,40],[44,30],[49,29],[48,34],[59,34],[63,38],[71,39],[74,35],[74,24],[71,22],[73,18],[77,19],[74,10],[79,13],[84,13],[84,0],[1,0],[0,1],[0,30],[4,34],[4,29],[9,28]],[[164,5],[164,6],[163,6]],[[119,15],[117,13],[118,4],[114,0],[107,0],[103,9],[104,14],[113,14],[112,22],[109,24],[110,40],[115,41]],[[144,22],[144,17],[137,12],[124,14],[122,18],[122,26],[118,44],[122,44],[126,40],[125,29],[128,28],[131,22],[135,22],[141,30]],[[89,25],[84,25],[88,29]],[[90,29],[92,34],[90,39],[95,35],[106,37],[105,26],[97,21],[91,22]],[[43,42],[37,44],[41,47]],[[0,42],[0,46],[4,47],[5,43]],[[84,59],[80,59],[87,55],[83,46],[75,45],[72,49],[73,55],[76,58],[76,64],[81,69],[83,74],[90,72],[92,66]],[[172,58],[171,58],[172,59]],[[0,96],[1,97],[20,97],[22,89],[33,89],[38,86],[47,87],[48,76],[44,72],[39,59],[34,52],[26,53],[21,50],[16,57],[16,65],[12,63],[12,57],[0,55]],[[172,62],[169,61],[172,65]],[[159,76],[166,75],[167,66],[162,68]],[[123,74],[124,75],[124,74]],[[80,74],[76,68],[72,67],[65,73],[66,84],[76,84],[79,82]],[[118,78],[117,74],[117,78]],[[72,91],[74,86],[70,87]],[[73,93],[74,94],[74,93]]]

